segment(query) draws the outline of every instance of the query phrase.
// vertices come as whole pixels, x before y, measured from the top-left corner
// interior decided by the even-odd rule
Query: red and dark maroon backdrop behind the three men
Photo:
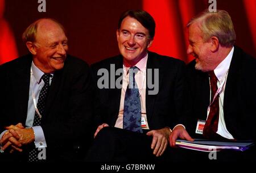
[[[38,12],[37,0],[0,0],[0,64],[27,54],[21,36],[26,27],[43,17],[55,18],[68,31],[69,54],[89,64],[118,54],[115,31],[121,12],[144,9],[155,19],[156,34],[150,50],[189,62],[185,25],[208,9],[208,0],[46,0]],[[256,57],[256,1],[217,0],[217,9],[232,17],[236,45]]]

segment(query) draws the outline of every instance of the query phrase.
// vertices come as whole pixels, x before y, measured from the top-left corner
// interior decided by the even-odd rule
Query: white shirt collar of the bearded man
[[[218,81],[220,81],[221,78],[228,72],[233,53],[234,47],[229,52],[228,56],[226,56],[225,59],[216,67],[216,69],[214,69],[214,74],[218,78]]]

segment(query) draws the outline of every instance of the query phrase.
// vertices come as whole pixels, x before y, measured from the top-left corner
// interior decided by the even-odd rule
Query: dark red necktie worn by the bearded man
[[[209,77],[210,77],[210,90],[211,90],[210,102],[212,102],[214,95],[216,94],[218,89],[217,87],[218,79],[214,74],[214,71],[209,72]],[[219,116],[218,97],[219,96],[217,95],[213,103],[210,105],[210,112],[203,130],[203,136],[205,138],[212,139],[212,140],[218,138],[218,134],[216,133],[218,130],[218,116]]]

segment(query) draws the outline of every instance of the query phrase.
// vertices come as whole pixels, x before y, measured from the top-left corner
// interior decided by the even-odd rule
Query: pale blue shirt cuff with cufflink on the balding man
[[[41,126],[32,126],[35,134],[35,147],[42,148],[47,147],[46,138],[44,137],[44,132]]]

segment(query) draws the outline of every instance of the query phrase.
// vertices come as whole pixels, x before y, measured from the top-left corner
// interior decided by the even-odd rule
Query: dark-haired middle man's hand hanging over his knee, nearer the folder
[[[169,135],[169,128],[151,130],[150,132],[147,132],[147,136],[153,136],[151,149],[154,149],[153,154],[156,155],[156,157],[161,156],[166,150]]]

